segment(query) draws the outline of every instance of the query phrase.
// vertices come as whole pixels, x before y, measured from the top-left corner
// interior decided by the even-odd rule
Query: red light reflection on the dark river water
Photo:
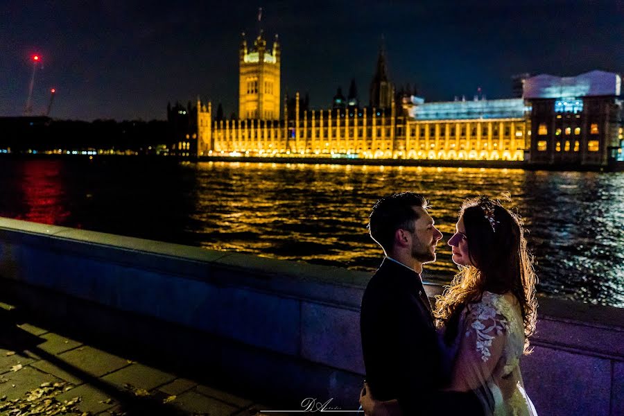
[[[51,225],[64,223],[70,213],[64,207],[60,162],[31,160],[22,166],[21,192],[28,211],[17,219]]]

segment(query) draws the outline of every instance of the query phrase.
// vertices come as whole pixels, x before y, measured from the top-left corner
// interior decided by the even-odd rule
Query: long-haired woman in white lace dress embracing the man
[[[474,392],[485,415],[537,415],[519,367],[537,318],[537,277],[520,217],[498,201],[467,200],[449,245],[460,271],[434,311],[447,390]],[[361,404],[371,416],[400,413],[392,401],[363,396]]]

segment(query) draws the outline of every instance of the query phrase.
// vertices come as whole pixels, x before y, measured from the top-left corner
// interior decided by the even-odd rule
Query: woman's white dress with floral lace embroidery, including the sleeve
[[[486,415],[537,415],[524,391],[520,357],[524,326],[513,295],[485,292],[461,312],[449,349],[451,390],[474,390]]]

